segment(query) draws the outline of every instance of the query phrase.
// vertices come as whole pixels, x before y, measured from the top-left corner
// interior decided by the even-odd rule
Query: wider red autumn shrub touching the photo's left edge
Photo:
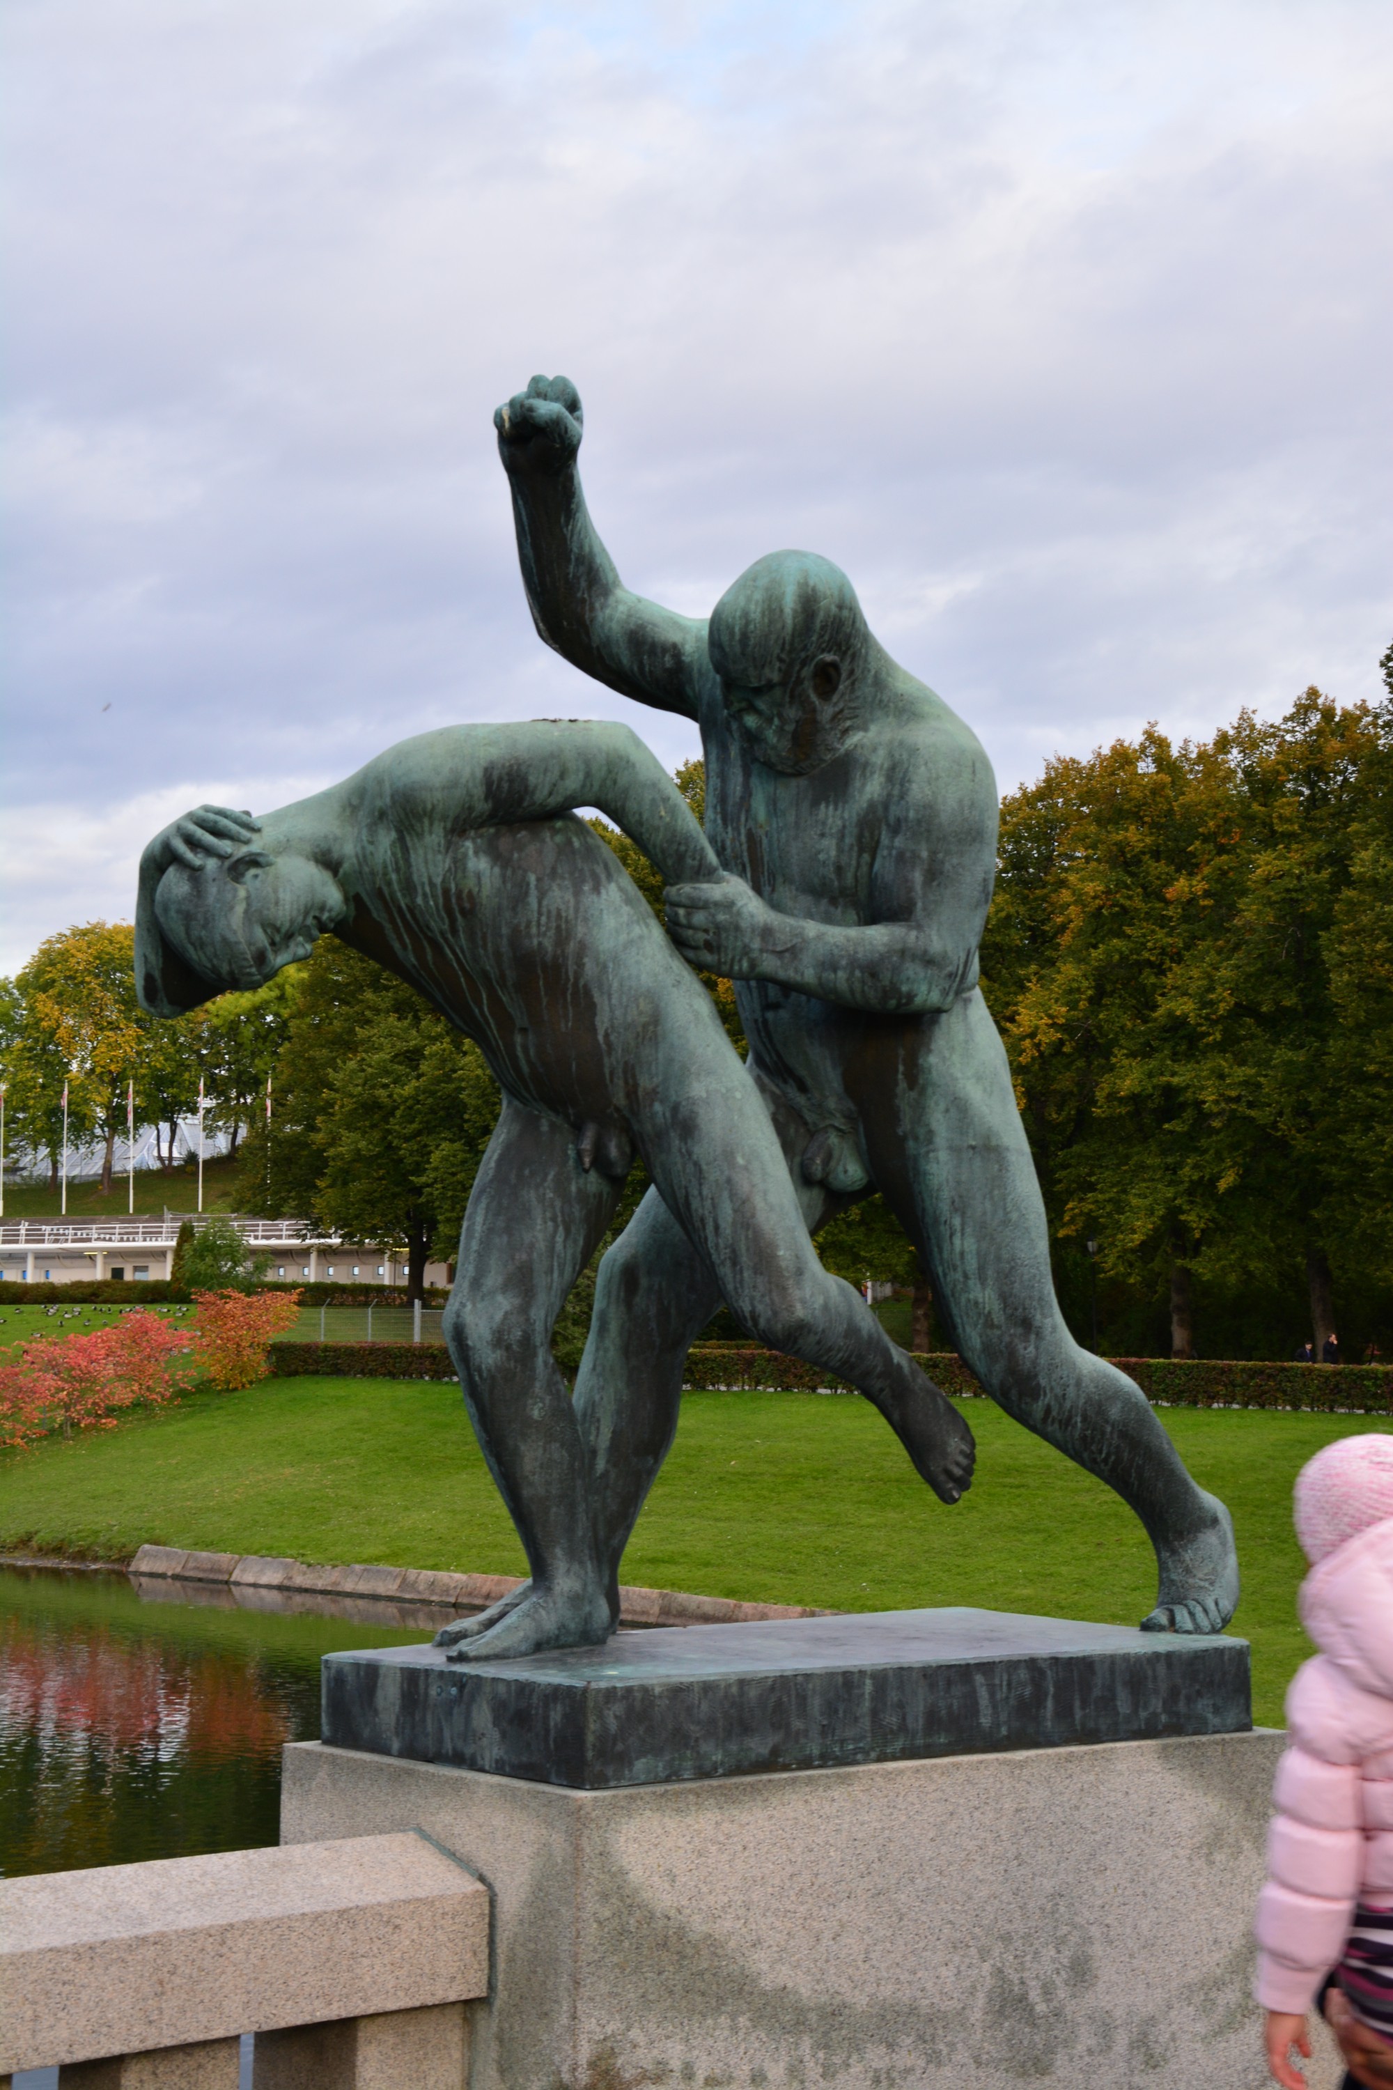
[[[0,1367],[0,1444],[50,1430],[111,1430],[113,1411],[159,1404],[188,1386],[188,1333],[148,1313],[121,1315],[90,1336],[36,1336]]]

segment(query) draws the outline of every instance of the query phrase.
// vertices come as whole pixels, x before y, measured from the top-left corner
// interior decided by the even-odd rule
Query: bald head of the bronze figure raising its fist
[[[856,589],[817,552],[771,552],[727,587],[708,648],[756,761],[821,769],[854,732],[871,633]]]

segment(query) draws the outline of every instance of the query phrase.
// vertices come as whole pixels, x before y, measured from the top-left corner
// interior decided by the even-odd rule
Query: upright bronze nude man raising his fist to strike
[[[977,991],[996,869],[979,742],[883,652],[827,560],[758,560],[708,623],[629,594],[585,508],[568,378],[533,378],[495,424],[541,637],[702,727],[706,834],[737,876],[672,890],[668,930],[737,982],[750,1068],[808,1227],[875,1185],[986,1392],[1142,1519],[1159,1565],[1142,1624],[1218,1630],[1238,1601],[1228,1511],[1055,1302],[1044,1204]],[[658,1471],[677,1425],[687,1346],[716,1304],[710,1271],[650,1193],[601,1262],[576,1381],[610,1576],[643,1501],[637,1476]]]

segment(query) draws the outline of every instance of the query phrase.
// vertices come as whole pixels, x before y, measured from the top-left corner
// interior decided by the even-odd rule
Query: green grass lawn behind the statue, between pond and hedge
[[[1099,1482],[965,1402],[971,1494],[944,1509],[860,1400],[689,1394],[624,1580],[871,1611],[975,1603],[1134,1624],[1151,1549]],[[1309,1651],[1295,1618],[1297,1467],[1357,1415],[1163,1411],[1195,1476],[1230,1505],[1234,1630],[1253,1641],[1255,1718],[1280,1724]],[[142,1540],[309,1561],[522,1572],[522,1553],[449,1386],[265,1379],[194,1394],[71,1444],[0,1455],[0,1547],[123,1557]]]

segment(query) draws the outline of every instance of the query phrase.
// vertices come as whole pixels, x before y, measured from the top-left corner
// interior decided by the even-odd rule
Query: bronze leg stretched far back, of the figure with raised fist
[[[1065,1327],[1044,1200],[986,1003],[969,995],[919,1035],[913,1078],[898,1093],[883,1083],[883,1104],[867,1097],[867,1131],[875,1179],[925,1256],[952,1340],[1009,1415],[1142,1519],[1159,1565],[1142,1624],[1218,1632],[1238,1603],[1230,1515],[1190,1480],[1140,1388]]]

